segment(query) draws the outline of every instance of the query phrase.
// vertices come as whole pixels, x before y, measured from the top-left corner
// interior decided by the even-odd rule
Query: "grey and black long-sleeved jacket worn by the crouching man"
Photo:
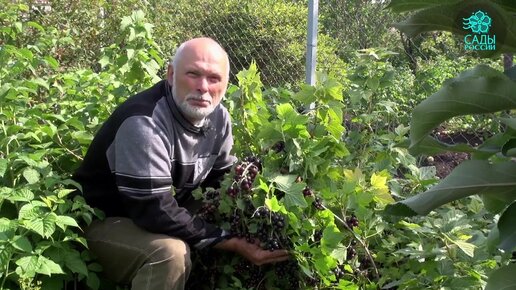
[[[200,249],[226,233],[184,206],[198,186],[217,186],[235,162],[232,145],[226,108],[219,104],[203,127],[195,127],[179,112],[168,82],[161,81],[113,112],[73,178],[88,204],[106,216],[129,217],[150,232]]]

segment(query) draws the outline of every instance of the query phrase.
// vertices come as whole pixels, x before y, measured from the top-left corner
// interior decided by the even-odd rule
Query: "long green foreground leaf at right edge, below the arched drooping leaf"
[[[483,194],[506,203],[516,199],[516,163],[490,164],[485,160],[467,160],[428,191],[387,205],[394,215],[426,215],[448,202],[473,194]]]

